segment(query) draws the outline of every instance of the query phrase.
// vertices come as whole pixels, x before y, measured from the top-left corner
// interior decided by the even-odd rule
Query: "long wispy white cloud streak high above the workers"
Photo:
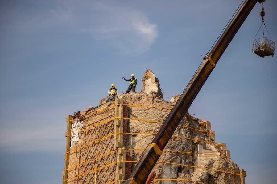
[[[23,31],[43,33],[44,29],[55,29],[55,32],[65,31],[73,36],[86,34],[88,39],[101,41],[123,55],[146,52],[158,37],[157,24],[151,23],[140,10],[123,3],[57,1],[36,16],[28,12],[15,13],[20,17],[15,24]]]

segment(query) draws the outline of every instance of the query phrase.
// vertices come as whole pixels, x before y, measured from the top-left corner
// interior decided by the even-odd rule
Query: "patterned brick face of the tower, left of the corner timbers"
[[[106,107],[108,107],[107,104],[104,104],[96,110]],[[71,150],[86,144],[89,144],[89,146],[83,147],[70,153],[69,168],[86,161],[89,161],[89,163],[85,163],[73,169],[70,169],[68,171],[68,178],[72,178],[73,176],[77,176],[78,174],[83,174],[86,172],[87,174],[83,174],[78,178],[69,180],[69,184],[85,184],[92,182],[94,183],[95,171],[93,170],[95,170],[96,164],[97,168],[99,168],[117,161],[116,152],[110,155],[103,156],[95,161],[95,158],[109,153],[111,151],[114,151],[114,136],[110,136],[105,139],[99,140],[102,137],[114,133],[114,120],[96,126],[98,123],[105,122],[112,118],[114,118],[114,107],[106,109],[102,112],[95,113],[83,119],[85,124],[83,129],[89,129],[84,132],[78,133],[80,140],[72,145]],[[114,181],[115,166],[116,164],[97,170],[97,183],[108,183]]]

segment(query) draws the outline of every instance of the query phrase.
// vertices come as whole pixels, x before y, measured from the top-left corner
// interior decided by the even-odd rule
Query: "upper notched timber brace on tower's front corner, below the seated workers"
[[[123,98],[118,99],[116,98],[115,104],[123,104]],[[118,149],[120,147],[123,147],[123,105],[116,105],[114,108],[114,149]]]

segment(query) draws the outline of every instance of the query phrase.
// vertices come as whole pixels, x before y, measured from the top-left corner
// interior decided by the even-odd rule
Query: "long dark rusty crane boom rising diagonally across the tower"
[[[138,163],[134,167],[134,170],[130,174],[130,178],[126,180],[125,184],[144,184],[146,182],[148,175],[159,157],[162,155],[164,147],[176,130],[181,119],[188,111],[188,108],[192,104],[196,95],[215,68],[217,61],[220,59],[221,55],[224,53],[225,49],[228,47],[238,29],[241,27],[242,23],[257,2],[261,3],[262,0],[246,0],[243,3],[233,20],[217,41],[216,45],[213,47],[212,51],[202,61],[187,87],[184,89],[184,92],[159,128],[155,137],[143,152]]]

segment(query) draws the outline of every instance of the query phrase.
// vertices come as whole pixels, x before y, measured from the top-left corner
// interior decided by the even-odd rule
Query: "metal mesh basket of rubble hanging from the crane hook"
[[[252,52],[260,57],[274,56],[275,43],[266,37],[253,40]]]

